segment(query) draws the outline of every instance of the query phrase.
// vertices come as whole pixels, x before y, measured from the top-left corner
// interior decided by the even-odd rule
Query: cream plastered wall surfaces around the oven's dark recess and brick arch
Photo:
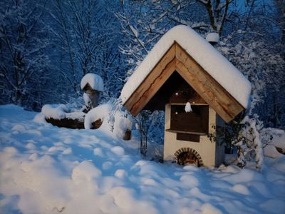
[[[175,152],[180,148],[192,148],[197,151],[199,156],[201,156],[204,166],[212,167],[218,165],[219,163],[216,163],[216,143],[211,141],[208,136],[200,136],[199,143],[179,141],[176,139],[176,133],[166,131],[167,129],[170,129],[170,111],[171,105],[167,104],[165,106],[165,144],[163,160],[174,161]],[[215,133],[214,127],[216,126],[216,121],[217,113],[209,106],[209,133]],[[220,153],[220,149],[218,153]]]

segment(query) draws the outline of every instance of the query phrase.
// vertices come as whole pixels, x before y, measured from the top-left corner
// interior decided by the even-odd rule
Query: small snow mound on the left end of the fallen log
[[[65,118],[67,111],[68,108],[63,104],[46,104],[41,108],[41,113],[43,113],[46,118],[54,118],[58,120]]]

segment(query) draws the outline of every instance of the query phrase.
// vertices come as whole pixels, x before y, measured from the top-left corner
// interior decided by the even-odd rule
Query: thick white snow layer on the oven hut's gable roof
[[[136,68],[121,91],[123,103],[140,86],[152,68],[160,61],[174,42],[177,42],[219,84],[221,84],[244,108],[249,105],[251,83],[243,74],[224,58],[214,47],[189,26],[175,26],[155,44],[149,54]]]

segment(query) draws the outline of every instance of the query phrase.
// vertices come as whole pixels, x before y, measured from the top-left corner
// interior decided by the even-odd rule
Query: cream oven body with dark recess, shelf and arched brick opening
[[[216,130],[224,126],[224,121],[207,104],[192,103],[192,113],[181,112],[185,104],[168,103],[165,106],[164,161],[176,161],[182,165],[219,166],[224,161],[224,145],[220,140],[222,136],[218,136]],[[176,116],[182,114],[186,118],[187,123],[182,123],[182,127],[173,124],[176,122],[175,113]],[[187,114],[200,114],[202,121],[199,118],[190,121]],[[190,156],[190,160],[185,160],[186,156]]]

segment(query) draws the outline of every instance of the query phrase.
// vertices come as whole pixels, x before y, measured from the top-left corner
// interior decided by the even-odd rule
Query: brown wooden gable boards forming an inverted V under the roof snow
[[[172,73],[177,72],[221,116],[229,122],[244,107],[175,41],[152,71],[135,89],[124,106],[136,116]]]

